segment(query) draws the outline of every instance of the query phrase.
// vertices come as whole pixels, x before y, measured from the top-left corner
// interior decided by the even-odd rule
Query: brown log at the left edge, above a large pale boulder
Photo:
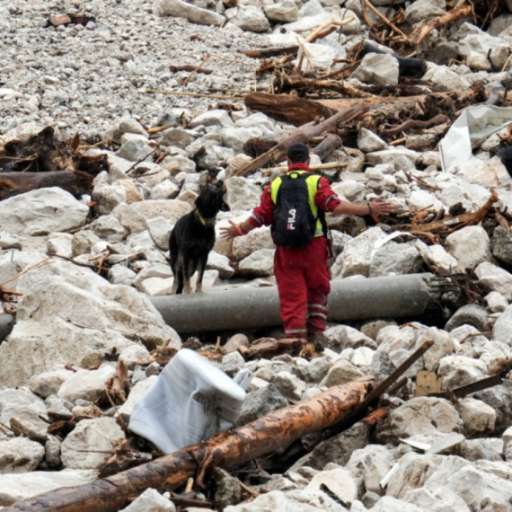
[[[80,171],[0,173],[0,200],[48,187],[59,187],[79,198],[93,190],[93,176]]]

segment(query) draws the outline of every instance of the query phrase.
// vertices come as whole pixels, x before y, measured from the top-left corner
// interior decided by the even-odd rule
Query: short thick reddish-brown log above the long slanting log
[[[291,123],[296,127],[330,118],[333,113],[321,103],[288,94],[251,93],[245,96],[244,102],[248,109],[264,112],[272,119]]]

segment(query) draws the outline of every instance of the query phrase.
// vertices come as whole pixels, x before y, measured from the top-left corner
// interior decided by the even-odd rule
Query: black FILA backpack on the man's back
[[[278,247],[305,247],[313,240],[317,218],[309,206],[305,182],[310,176],[311,172],[292,171],[281,177],[270,226],[272,240]],[[325,216],[321,210],[318,215],[323,227]]]

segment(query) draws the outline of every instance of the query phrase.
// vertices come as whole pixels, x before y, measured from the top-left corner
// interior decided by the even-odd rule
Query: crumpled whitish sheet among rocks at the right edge
[[[486,138],[511,123],[511,107],[481,105],[463,110],[439,144],[443,171],[467,162],[472,157],[473,146],[480,146]]]

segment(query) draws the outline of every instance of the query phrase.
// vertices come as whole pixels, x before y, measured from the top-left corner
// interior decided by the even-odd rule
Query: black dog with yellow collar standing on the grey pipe
[[[208,252],[215,244],[216,214],[223,206],[223,181],[201,190],[196,207],[174,225],[169,238],[173,294],[191,293],[190,278],[199,271],[196,291],[202,291]]]

